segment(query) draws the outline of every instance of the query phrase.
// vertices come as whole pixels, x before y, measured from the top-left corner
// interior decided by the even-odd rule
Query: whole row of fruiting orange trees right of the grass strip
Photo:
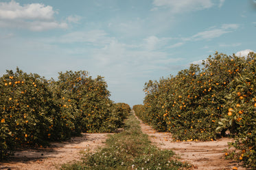
[[[143,105],[135,113],[175,141],[215,140],[229,130],[239,152],[232,154],[256,167],[256,54],[216,54],[176,76],[148,81]]]

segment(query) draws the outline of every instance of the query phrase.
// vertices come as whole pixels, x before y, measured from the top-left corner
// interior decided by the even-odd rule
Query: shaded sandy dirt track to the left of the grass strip
[[[55,170],[60,165],[80,160],[80,151],[93,152],[103,146],[106,133],[82,134],[69,142],[51,143],[49,148],[16,152],[8,161],[0,162],[0,169],[6,170]]]

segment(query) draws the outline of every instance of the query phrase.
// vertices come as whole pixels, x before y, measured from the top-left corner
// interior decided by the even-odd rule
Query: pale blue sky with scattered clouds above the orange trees
[[[0,76],[104,76],[115,102],[216,51],[256,51],[255,0],[0,0]]]

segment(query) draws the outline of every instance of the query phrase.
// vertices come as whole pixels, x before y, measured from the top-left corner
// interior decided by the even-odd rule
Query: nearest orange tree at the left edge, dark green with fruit
[[[49,137],[46,129],[58,111],[47,81],[19,68],[8,70],[0,78],[0,93],[1,157],[14,146],[45,145]]]

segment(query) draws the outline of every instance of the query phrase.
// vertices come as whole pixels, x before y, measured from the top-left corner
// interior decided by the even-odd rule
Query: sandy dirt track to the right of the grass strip
[[[218,139],[217,141],[192,141],[192,142],[174,142],[170,132],[156,132],[141,120],[141,130],[148,134],[150,141],[161,149],[171,149],[181,158],[181,161],[187,161],[194,165],[195,169],[227,170],[237,167],[239,170],[245,170],[241,163],[225,160],[223,150],[229,148],[228,142],[231,139]]]

